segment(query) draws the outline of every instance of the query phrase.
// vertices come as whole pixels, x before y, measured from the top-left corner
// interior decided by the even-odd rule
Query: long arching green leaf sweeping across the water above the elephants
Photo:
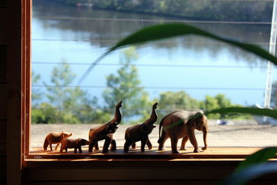
[[[98,58],[95,62],[91,64],[91,66],[87,69],[84,75],[80,78],[78,84],[80,84],[82,80],[84,80],[84,78],[87,77],[87,75],[93,69],[93,67],[98,62],[100,62],[100,60],[102,60],[102,58],[104,58],[105,55],[108,55],[109,53],[111,53],[112,51],[115,51],[116,49],[120,49],[122,47],[130,46],[134,44],[143,44],[145,42],[151,42],[159,39],[166,39],[169,37],[177,37],[177,36],[184,36],[184,35],[191,35],[191,34],[210,37],[212,39],[217,39],[222,42],[226,42],[227,44],[232,44],[234,46],[237,46],[240,49],[244,49],[245,51],[255,53],[261,58],[269,60],[277,65],[277,58],[275,58],[274,55],[271,55],[269,52],[265,51],[264,49],[261,49],[259,46],[256,46],[253,44],[244,44],[242,42],[238,42],[233,39],[220,37],[212,33],[208,33],[195,26],[190,26],[188,24],[178,24],[178,23],[158,24],[158,25],[149,26],[141,30],[138,30],[135,33],[132,33],[131,35],[120,40],[117,44],[115,44],[110,49],[108,49],[106,53],[101,55],[100,58]]]

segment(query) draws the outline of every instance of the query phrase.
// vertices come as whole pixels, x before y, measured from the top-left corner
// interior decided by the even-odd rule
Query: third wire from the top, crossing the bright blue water
[[[64,64],[62,62],[32,62],[32,64]],[[91,65],[87,62],[66,62],[69,65]],[[127,64],[98,63],[96,66],[127,66]],[[246,68],[246,69],[266,69],[267,67],[249,67],[249,66],[212,66],[212,65],[179,65],[179,64],[129,64],[135,67],[199,67],[199,68]]]

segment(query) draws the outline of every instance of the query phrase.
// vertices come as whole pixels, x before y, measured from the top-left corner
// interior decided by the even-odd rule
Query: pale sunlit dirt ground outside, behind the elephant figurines
[[[209,122],[210,132],[208,133],[208,146],[277,146],[277,126],[258,125],[255,121],[229,121],[228,125],[217,125],[216,121]],[[89,130],[97,124],[37,124],[31,125],[32,147],[42,147],[44,138],[49,132],[72,132],[71,138],[89,139]],[[118,130],[114,134],[117,146],[124,146],[125,130],[130,125],[118,125]],[[204,146],[202,132],[195,131],[199,146]],[[153,146],[158,146],[159,125],[150,134],[150,141]],[[100,146],[103,145],[100,141]],[[140,146],[141,143],[136,143]],[[170,147],[170,139],[166,141],[166,146]],[[181,146],[181,139],[179,145]],[[188,142],[190,147],[190,142]]]

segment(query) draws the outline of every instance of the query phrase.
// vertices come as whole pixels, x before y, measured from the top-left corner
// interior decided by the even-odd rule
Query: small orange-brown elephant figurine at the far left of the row
[[[47,134],[46,138],[44,139],[44,150],[47,150],[47,147],[50,146],[50,150],[52,150],[52,144],[57,144],[57,146],[60,145],[62,139],[66,139],[68,137],[72,136],[72,133],[68,132],[51,132]],[[57,150],[57,146],[55,150]]]

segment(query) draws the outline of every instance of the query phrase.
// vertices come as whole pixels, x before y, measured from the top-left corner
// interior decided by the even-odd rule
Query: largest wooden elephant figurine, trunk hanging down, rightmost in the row
[[[163,127],[162,132],[161,127]],[[180,138],[183,138],[180,150],[186,150],[186,142],[189,139],[195,148],[193,152],[199,152],[195,138],[195,129],[203,132],[205,146],[202,150],[206,150],[208,148],[208,120],[201,110],[198,112],[177,111],[166,115],[159,125],[159,150],[164,150],[163,145],[166,139],[170,137],[172,153],[179,153],[177,143]]]

